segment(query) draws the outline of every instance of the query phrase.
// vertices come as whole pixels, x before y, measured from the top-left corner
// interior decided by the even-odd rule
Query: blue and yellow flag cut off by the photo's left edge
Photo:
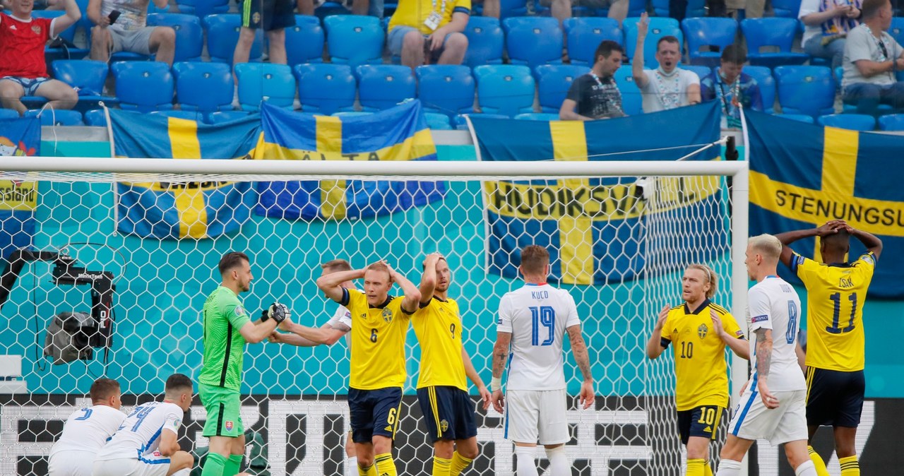
[[[0,120],[0,155],[40,155],[41,120],[37,117]],[[27,179],[23,174],[23,179]],[[0,255],[30,247],[34,237],[34,210],[38,182],[0,180]]]

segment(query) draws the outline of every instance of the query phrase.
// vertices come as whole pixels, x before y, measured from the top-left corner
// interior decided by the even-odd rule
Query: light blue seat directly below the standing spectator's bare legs
[[[292,69],[285,64],[241,63],[235,65],[242,110],[256,111],[260,103],[292,107],[296,83]]]

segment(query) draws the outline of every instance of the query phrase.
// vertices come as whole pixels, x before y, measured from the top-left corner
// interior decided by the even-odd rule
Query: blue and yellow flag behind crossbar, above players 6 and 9
[[[437,160],[421,112],[410,101],[369,116],[313,116],[264,104],[256,159]],[[259,215],[281,219],[367,219],[443,198],[444,182],[353,180],[259,182]]]

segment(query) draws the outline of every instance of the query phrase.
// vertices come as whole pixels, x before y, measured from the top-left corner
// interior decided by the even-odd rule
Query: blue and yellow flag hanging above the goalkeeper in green
[[[219,126],[110,110],[118,157],[250,159],[259,117]],[[144,238],[212,238],[250,217],[250,182],[118,183],[118,230]]]

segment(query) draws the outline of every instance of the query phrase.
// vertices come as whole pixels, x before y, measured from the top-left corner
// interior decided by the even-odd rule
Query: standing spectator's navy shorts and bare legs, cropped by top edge
[[[232,65],[247,63],[258,28],[267,32],[269,61],[286,64],[286,28],[295,26],[292,0],[244,0],[240,2],[241,31],[232,53]]]

